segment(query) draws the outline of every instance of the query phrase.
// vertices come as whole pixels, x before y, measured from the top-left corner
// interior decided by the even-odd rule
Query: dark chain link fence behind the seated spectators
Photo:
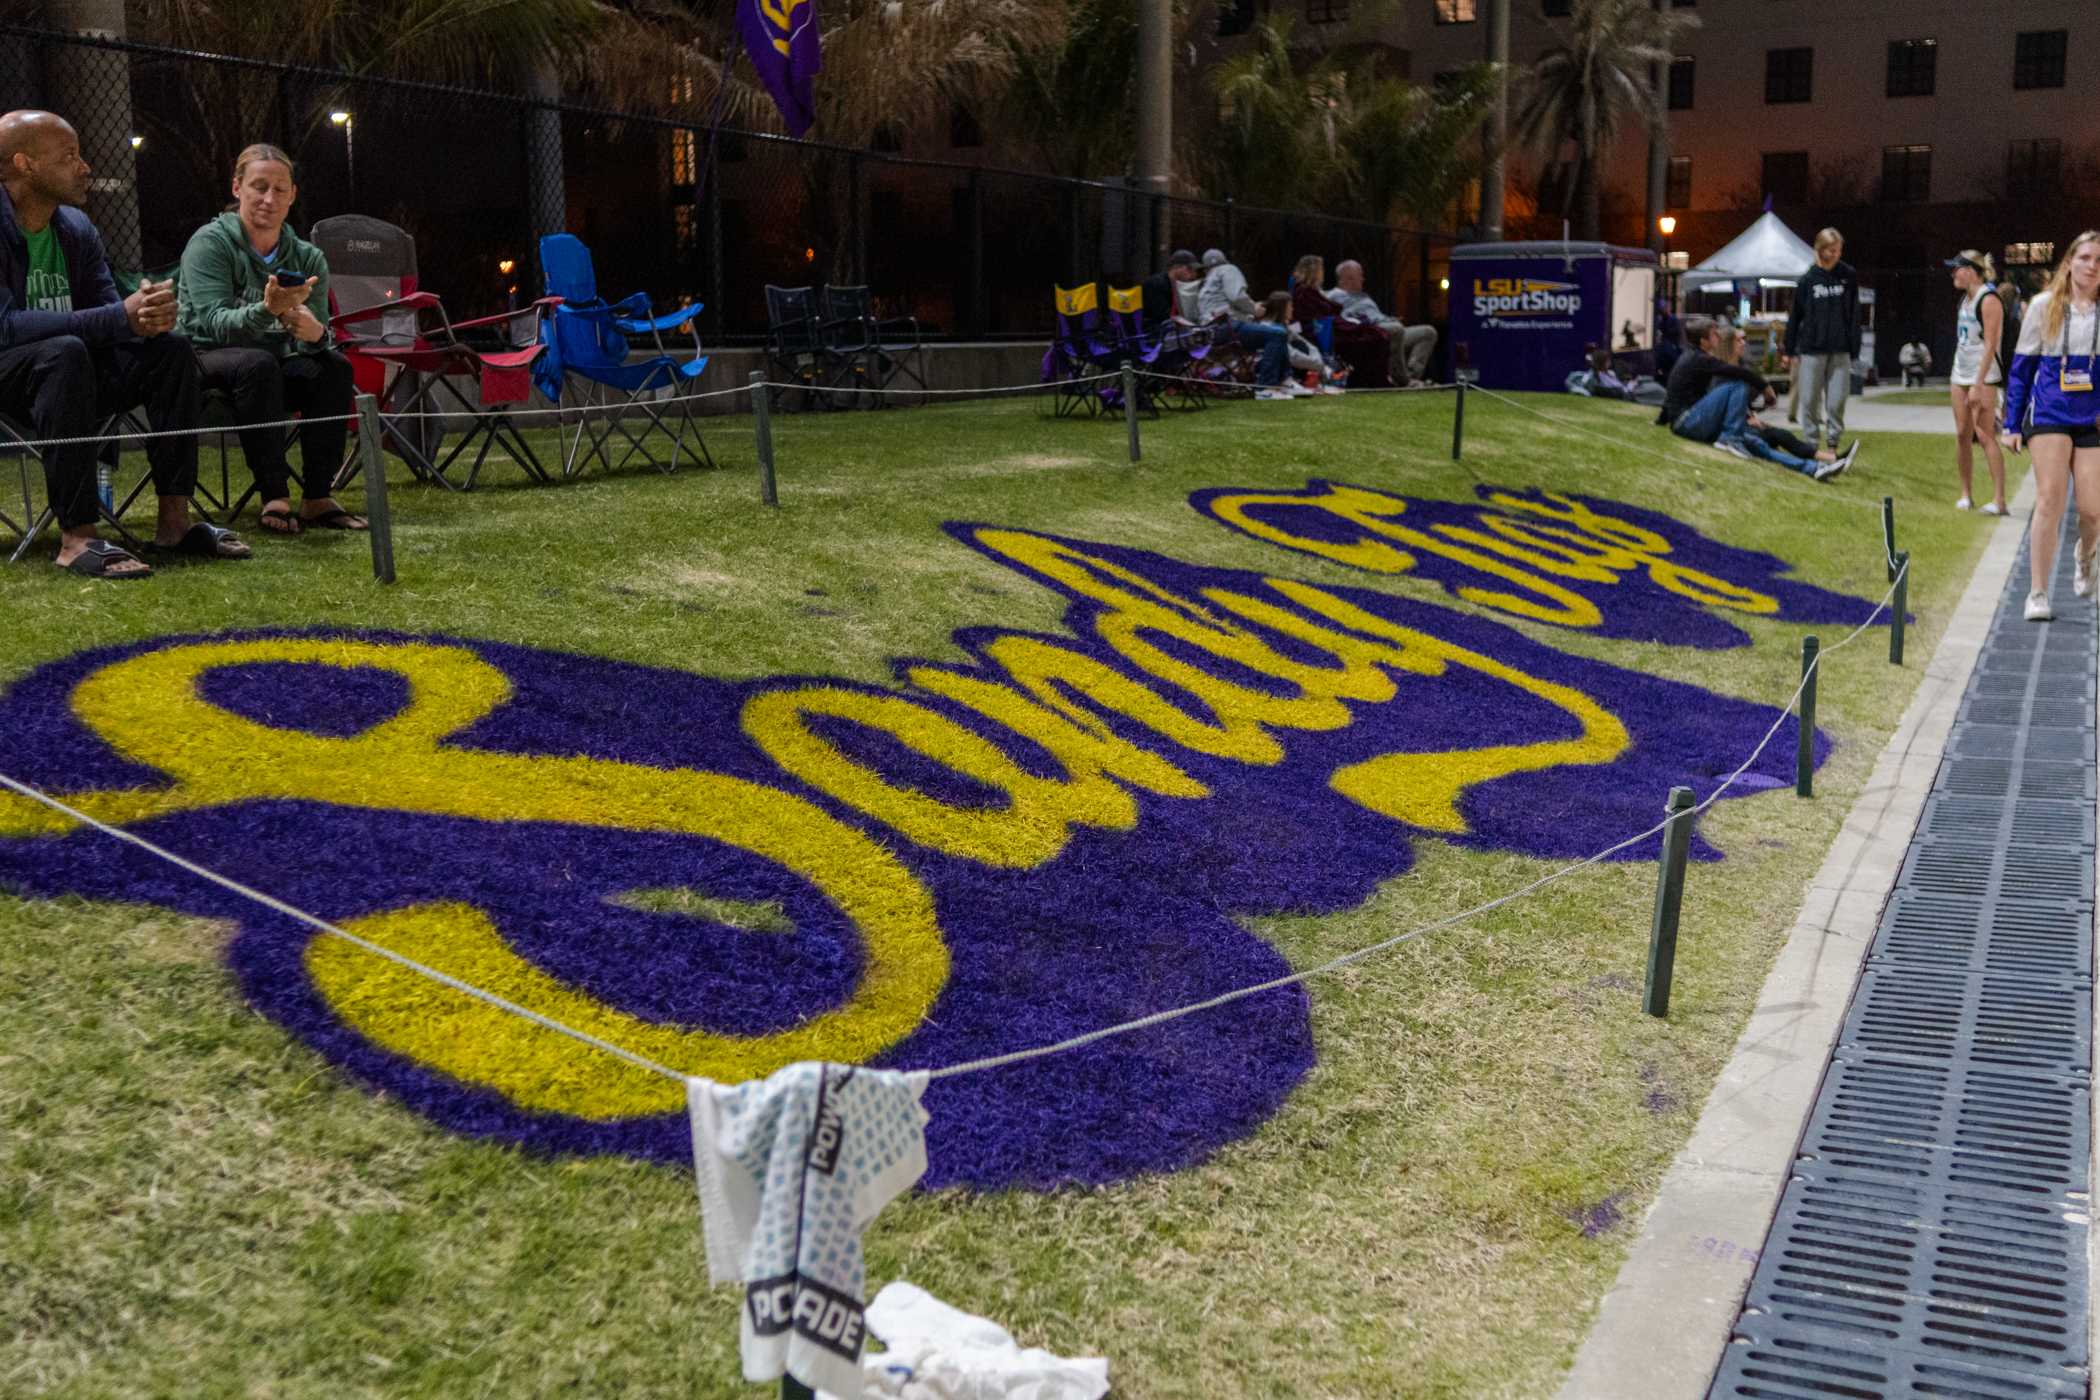
[[[294,229],[330,214],[399,225],[454,317],[540,294],[538,237],[567,229],[605,292],[708,306],[714,342],[764,336],[764,288],[874,288],[884,315],[947,340],[1044,338],[1050,283],[1136,279],[1161,248],[1224,248],[1256,296],[1304,252],[1365,267],[1409,321],[1441,319],[1449,235],[1287,210],[1142,195],[853,151],[504,92],[355,78],[0,25],[0,105],[74,122],[94,168],[88,214],[120,271],[160,271],[229,208],[233,157],[298,162]]]

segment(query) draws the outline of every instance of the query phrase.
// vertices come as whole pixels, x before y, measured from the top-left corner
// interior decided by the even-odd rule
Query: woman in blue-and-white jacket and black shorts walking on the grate
[[[1995,298],[1993,298],[1995,300]],[[2006,376],[2006,445],[2035,455],[2035,518],[2029,533],[2026,621],[2050,621],[2050,573],[2064,529],[2064,493],[2077,483],[2079,544],[2071,590],[2094,592],[2100,550],[2100,233],[2071,241],[2050,288],[2026,309]]]

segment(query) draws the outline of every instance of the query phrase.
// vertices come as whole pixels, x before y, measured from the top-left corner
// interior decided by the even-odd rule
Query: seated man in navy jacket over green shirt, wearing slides
[[[103,239],[78,208],[88,197],[80,136],[48,111],[0,115],[0,411],[38,439],[88,437],[109,413],[145,405],[155,432],[195,428],[197,357],[170,336],[174,285],[118,296]],[[59,565],[97,579],[151,573],[94,535],[97,443],[44,449],[44,489],[59,518]],[[210,558],[246,558],[229,531],[191,521],[197,439],[147,439],[160,521],[153,542]]]

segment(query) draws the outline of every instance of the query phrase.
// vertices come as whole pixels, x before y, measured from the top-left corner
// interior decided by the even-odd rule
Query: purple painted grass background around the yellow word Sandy
[[[968,527],[951,525],[949,531],[970,544]],[[1182,596],[1201,588],[1264,592],[1254,573],[1071,544],[1138,569]],[[1331,592],[1527,674],[1577,686],[1609,705],[1632,733],[1628,754],[1609,766],[1558,768],[1474,787],[1464,800],[1472,829],[1460,837],[1462,846],[1556,861],[1586,856],[1651,825],[1672,785],[1712,791],[1774,718],[1766,705],[1569,657],[1443,607],[1367,590]],[[1096,613],[1096,604],[1073,598],[1069,636],[1056,640],[1142,680],[1094,638],[1090,619]],[[966,628],[956,642],[974,655],[995,636],[1002,634],[991,628]],[[155,781],[82,730],[65,697],[82,676],[118,657],[183,640],[195,638],[82,653],[17,682],[4,701],[21,737],[10,768],[55,791]],[[1264,634],[1264,640],[1279,651],[1312,655],[1283,638]],[[995,871],[914,846],[802,789],[743,737],[737,716],[750,695],[806,684],[806,678],[722,682],[494,642],[456,644],[498,665],[514,686],[510,703],[454,735],[456,747],[586,754],[729,772],[798,791],[899,852],[934,892],[953,959],[926,1022],[880,1058],[899,1068],[1040,1045],[1279,976],[1285,961],[1245,932],[1241,919],[1350,909],[1411,865],[1418,837],[1336,796],[1327,777],[1338,766],[1390,751],[1575,733],[1562,712],[1474,672],[1403,678],[1399,699],[1357,705],[1348,728],[1281,735],[1287,758],[1270,768],[1174,751],[1184,770],[1212,787],[1212,798],[1140,793],[1134,831],[1077,829],[1048,865]],[[905,665],[901,661],[899,672]],[[972,661],[956,670],[974,667]],[[208,678],[204,693],[271,724],[317,733],[355,733],[353,722],[378,722],[399,703],[391,678],[344,684],[342,672],[315,676],[313,670],[229,667]],[[1149,684],[1159,688],[1159,682]],[[926,703],[987,737],[1000,733],[941,701]],[[1791,718],[1781,724],[1756,768],[1764,787],[1791,775]],[[939,764],[850,730],[850,724],[834,724],[827,735],[895,781],[960,800],[985,798],[974,783]],[[1144,737],[1128,726],[1126,733]],[[1050,758],[1029,745],[1008,737],[1004,747],[1029,768],[1054,770]],[[1819,737],[1819,762],[1827,749]],[[853,930],[813,888],[701,837],[302,802],[183,812],[145,823],[141,833],[336,921],[420,900],[479,905],[504,938],[548,974],[662,1022],[737,1035],[775,1031],[844,1003],[861,970]],[[1699,837],[1693,854],[1718,858]],[[1653,856],[1651,840],[1621,858]],[[529,1115],[491,1091],[378,1049],[342,1026],[315,995],[300,961],[309,940],[304,928],[256,913],[216,886],[97,833],[0,842],[0,884],[40,896],[145,900],[239,921],[229,957],[258,1010],[368,1085],[456,1131],[556,1152],[689,1159],[682,1115],[624,1123]],[[779,900],[794,932],[752,934],[607,903],[624,890],[657,886]],[[1426,919],[1443,909],[1411,913]],[[1539,928],[1537,936],[1550,938],[1552,930]],[[926,1182],[1048,1188],[1186,1167],[1273,1115],[1310,1064],[1306,993],[1285,989],[1065,1056],[937,1081],[926,1096],[932,1110]]]

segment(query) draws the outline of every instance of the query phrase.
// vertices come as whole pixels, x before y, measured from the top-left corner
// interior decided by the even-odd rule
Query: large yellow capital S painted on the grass
[[[336,739],[256,724],[210,703],[197,688],[200,676],[214,667],[262,661],[395,672],[410,684],[410,705],[361,735]],[[445,745],[508,695],[504,674],[462,646],[275,638],[151,651],[82,680],[74,712],[126,758],[166,772],[172,785],[145,793],[80,793],[71,802],[103,821],[304,800],[701,835],[792,871],[853,919],[865,947],[865,972],[844,1007],[758,1037],[651,1026],[531,968],[477,909],[395,911],[365,919],[361,932],[439,972],[710,1079],[756,1079],[796,1060],[867,1060],[920,1024],[947,980],[947,947],[932,896],[878,842],[802,798],[720,772]],[[0,831],[10,835],[67,825],[25,798],[0,804]],[[670,1112],[682,1102],[676,1083],[437,987],[363,949],[323,938],[309,951],[309,968],[321,995],[357,1031],[458,1079],[500,1089],[527,1108],[615,1119]],[[401,1016],[401,997],[412,991],[410,1003],[428,1005],[428,1016]],[[491,1045],[517,1054],[489,1054]]]

